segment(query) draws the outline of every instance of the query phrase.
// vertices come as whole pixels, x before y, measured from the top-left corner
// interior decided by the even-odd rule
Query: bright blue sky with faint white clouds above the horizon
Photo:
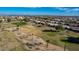
[[[0,15],[79,16],[79,7],[0,7]]]

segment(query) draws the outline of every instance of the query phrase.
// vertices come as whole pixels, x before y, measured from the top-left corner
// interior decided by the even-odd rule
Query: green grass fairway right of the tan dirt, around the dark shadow
[[[69,31],[68,33],[63,33],[72,37],[79,37],[79,33]],[[60,35],[58,32],[43,32],[41,37],[44,40],[49,40],[50,43],[64,47],[65,42],[61,41],[65,39],[64,35]],[[79,44],[67,42],[67,49],[70,51],[79,51]]]

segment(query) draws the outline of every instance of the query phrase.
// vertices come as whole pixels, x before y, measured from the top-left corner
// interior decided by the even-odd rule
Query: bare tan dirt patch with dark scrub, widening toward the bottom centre
[[[31,51],[63,51],[62,47],[48,44],[42,38],[38,37],[41,31],[36,30],[33,26],[20,28],[15,32],[17,40],[19,40],[27,50]]]

